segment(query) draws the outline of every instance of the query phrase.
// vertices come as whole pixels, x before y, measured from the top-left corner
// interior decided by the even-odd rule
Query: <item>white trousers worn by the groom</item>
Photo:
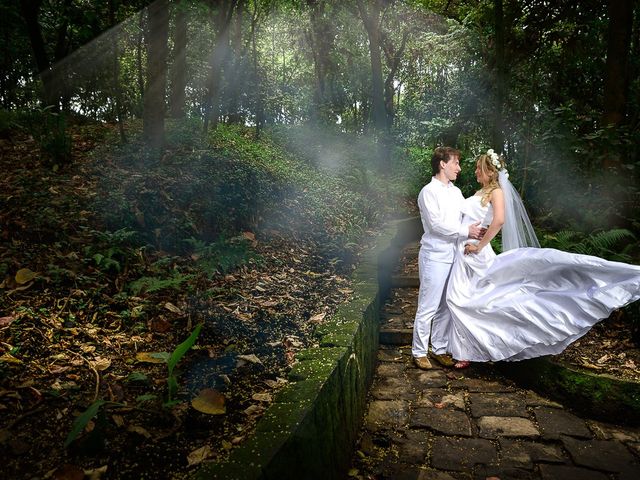
[[[452,263],[434,262],[427,259],[427,253],[420,249],[418,254],[418,272],[420,290],[418,291],[418,310],[413,324],[414,357],[424,357],[431,350],[441,355],[447,352],[447,330],[449,312],[445,301],[447,280]]]

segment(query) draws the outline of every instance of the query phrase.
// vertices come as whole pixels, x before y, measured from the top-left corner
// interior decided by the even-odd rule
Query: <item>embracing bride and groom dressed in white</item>
[[[460,152],[436,148],[420,191],[424,234],[412,354],[418,368],[466,368],[562,352],[617,308],[640,299],[640,266],[539,248],[504,159],[476,159],[480,189],[453,182]],[[502,230],[502,251],[491,240]],[[431,352],[429,351],[431,343]]]

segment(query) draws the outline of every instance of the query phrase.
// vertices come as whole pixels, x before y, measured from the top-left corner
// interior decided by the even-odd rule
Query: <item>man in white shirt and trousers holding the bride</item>
[[[463,226],[464,197],[453,181],[460,173],[460,152],[438,147],[431,157],[433,178],[418,195],[418,207],[424,234],[420,240],[418,268],[420,290],[418,310],[413,325],[413,359],[418,368],[432,368],[428,358],[429,338],[432,357],[450,367],[453,360],[447,352],[449,315],[444,294],[451,272],[456,242],[459,238],[482,238],[480,222]]]

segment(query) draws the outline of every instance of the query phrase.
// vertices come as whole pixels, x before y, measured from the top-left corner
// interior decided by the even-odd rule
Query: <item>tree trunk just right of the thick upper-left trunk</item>
[[[173,34],[173,69],[171,75],[170,115],[185,116],[185,91],[187,88],[187,11],[182,0],[176,2],[176,22]]]

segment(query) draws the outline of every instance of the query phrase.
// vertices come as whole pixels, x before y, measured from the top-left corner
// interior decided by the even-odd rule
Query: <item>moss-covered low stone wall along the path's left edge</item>
[[[379,312],[400,249],[416,220],[394,222],[363,255],[353,298],[318,327],[318,347],[298,353],[255,434],[225,463],[203,466],[198,479],[343,479],[366,407],[376,365]]]

